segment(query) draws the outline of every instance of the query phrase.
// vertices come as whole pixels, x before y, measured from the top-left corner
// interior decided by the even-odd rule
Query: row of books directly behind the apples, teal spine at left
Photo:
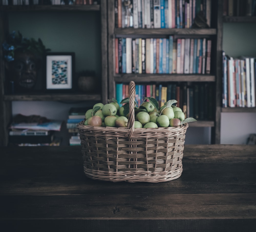
[[[122,99],[129,97],[128,90],[128,84],[116,83],[116,100],[119,103]],[[186,117],[197,120],[213,119],[214,93],[209,83],[136,84],[135,93],[135,101],[139,106],[145,97],[154,97],[159,106],[163,106],[168,100],[175,99],[177,100],[175,104],[185,111]]]

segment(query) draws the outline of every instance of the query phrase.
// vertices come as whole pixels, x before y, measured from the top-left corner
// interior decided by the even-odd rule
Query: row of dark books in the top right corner
[[[256,0],[223,0],[224,16],[256,16]]]

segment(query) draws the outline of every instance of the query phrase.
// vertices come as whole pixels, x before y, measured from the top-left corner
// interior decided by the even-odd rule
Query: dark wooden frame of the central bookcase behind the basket
[[[120,28],[115,25],[115,4],[109,1],[108,4],[108,40],[109,40],[109,93],[115,97],[116,83],[129,83],[134,81],[135,84],[147,83],[167,83],[179,82],[183,83],[210,83],[214,96],[212,96],[212,104],[214,115],[212,120],[198,120],[197,123],[191,123],[191,127],[211,127],[211,143],[220,142],[220,106],[218,102],[221,97],[221,30],[222,28],[220,16],[221,1],[211,2],[211,27],[210,28]],[[211,72],[210,74],[167,74],[167,73],[116,73],[115,71],[115,38],[168,38],[172,35],[174,38],[202,38],[205,37],[212,41],[211,50]],[[114,96],[113,96],[114,93]]]

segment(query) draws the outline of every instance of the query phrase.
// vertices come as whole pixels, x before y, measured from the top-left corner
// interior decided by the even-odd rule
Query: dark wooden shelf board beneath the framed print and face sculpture
[[[5,101],[101,101],[100,94],[14,94],[4,95]]]

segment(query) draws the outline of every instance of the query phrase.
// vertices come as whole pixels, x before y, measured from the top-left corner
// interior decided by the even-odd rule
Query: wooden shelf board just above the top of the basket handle
[[[170,81],[191,81],[191,82],[214,82],[215,75],[202,74],[116,74],[116,82],[170,82]]]

